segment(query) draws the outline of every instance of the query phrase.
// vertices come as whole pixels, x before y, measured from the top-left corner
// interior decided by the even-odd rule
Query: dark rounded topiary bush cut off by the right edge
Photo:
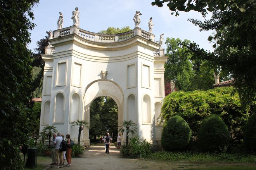
[[[250,150],[256,151],[256,113],[249,117],[244,126],[244,144]]]

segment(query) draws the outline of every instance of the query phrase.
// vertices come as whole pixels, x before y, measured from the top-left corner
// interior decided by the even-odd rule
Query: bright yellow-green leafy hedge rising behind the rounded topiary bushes
[[[209,114],[219,115],[235,139],[242,139],[242,127],[250,115],[250,109],[244,111],[239,94],[233,87],[216,88],[207,91],[176,91],[163,100],[161,120],[179,115],[186,120],[197,136],[202,120]]]

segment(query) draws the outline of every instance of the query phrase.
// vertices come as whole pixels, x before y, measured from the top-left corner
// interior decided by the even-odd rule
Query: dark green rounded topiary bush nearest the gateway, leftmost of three
[[[180,116],[171,117],[163,126],[161,144],[165,150],[183,150],[190,141],[191,129]]]

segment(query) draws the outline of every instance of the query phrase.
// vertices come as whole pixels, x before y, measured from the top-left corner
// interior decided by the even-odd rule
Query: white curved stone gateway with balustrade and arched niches
[[[42,55],[45,61],[40,131],[55,125],[77,141],[76,120],[90,122],[90,104],[109,96],[118,105],[118,126],[123,120],[137,125],[147,141],[161,139],[159,116],[164,98],[164,49],[154,34],[135,27],[120,34],[98,34],[77,26],[54,31]],[[90,144],[89,129],[81,136]],[[125,139],[125,137],[123,137]]]

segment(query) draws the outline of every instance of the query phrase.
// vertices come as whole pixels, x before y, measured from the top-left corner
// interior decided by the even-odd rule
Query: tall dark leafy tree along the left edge
[[[0,162],[2,169],[22,169],[19,147],[26,143],[31,94],[31,52],[28,29],[38,0],[0,3]],[[17,137],[19,140],[17,140]]]

